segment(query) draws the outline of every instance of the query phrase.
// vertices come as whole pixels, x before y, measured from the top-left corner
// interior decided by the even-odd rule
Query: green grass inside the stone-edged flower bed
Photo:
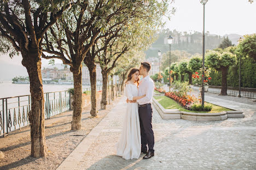
[[[159,102],[160,105],[162,105],[162,107],[164,107],[165,109],[178,109],[180,111],[185,111],[185,112],[194,112],[194,113],[218,113],[218,112],[222,112],[222,111],[231,111],[228,108],[225,107],[220,107],[220,106],[216,106],[210,103],[207,103],[208,105],[212,105],[212,110],[210,112],[203,112],[203,111],[190,111],[187,110],[185,108],[183,108],[181,105],[179,105],[175,100],[168,98],[166,96],[154,96],[154,98],[156,99],[156,101]]]

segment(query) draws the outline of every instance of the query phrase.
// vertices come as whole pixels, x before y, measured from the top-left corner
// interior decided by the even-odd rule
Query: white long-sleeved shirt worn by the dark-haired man
[[[138,96],[144,96],[144,98],[138,99],[137,102],[139,105],[144,105],[144,104],[152,104],[152,98],[153,98],[153,92],[154,92],[154,82],[153,80],[149,77],[146,76],[142,78],[142,80],[139,82],[139,88],[138,88]]]

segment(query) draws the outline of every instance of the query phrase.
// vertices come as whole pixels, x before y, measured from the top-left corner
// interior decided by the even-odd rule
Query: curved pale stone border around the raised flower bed
[[[223,111],[220,113],[193,113],[183,112],[178,109],[165,109],[153,98],[153,105],[162,117],[162,119],[184,119],[193,121],[217,121],[225,120],[228,118],[244,118],[245,115],[242,111]]]

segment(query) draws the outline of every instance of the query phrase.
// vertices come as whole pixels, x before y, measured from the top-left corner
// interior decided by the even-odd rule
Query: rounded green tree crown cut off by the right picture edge
[[[240,40],[237,51],[242,57],[251,57],[256,61],[256,34],[245,35],[245,39]]]

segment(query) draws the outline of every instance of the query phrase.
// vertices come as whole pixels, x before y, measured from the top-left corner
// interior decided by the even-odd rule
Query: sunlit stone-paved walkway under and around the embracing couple
[[[153,108],[155,156],[115,156],[125,98],[89,133],[58,169],[256,169],[256,106],[206,98],[240,107],[245,118],[217,122],[163,120]]]

